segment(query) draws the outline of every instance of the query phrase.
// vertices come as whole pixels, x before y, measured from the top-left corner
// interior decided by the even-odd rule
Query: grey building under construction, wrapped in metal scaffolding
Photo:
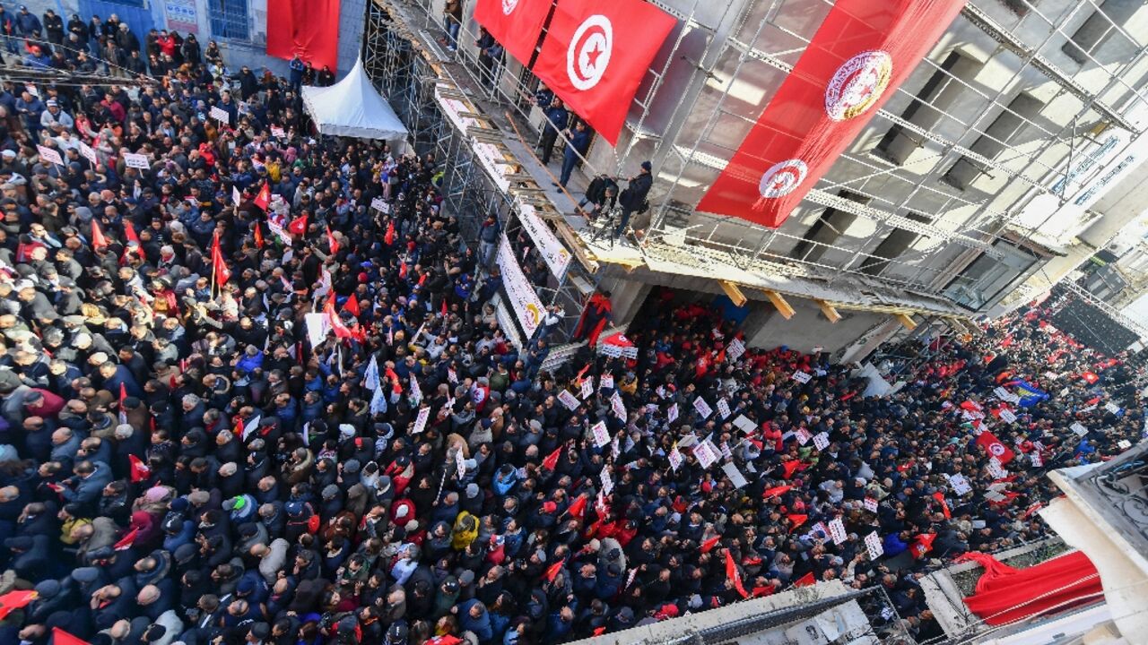
[[[523,204],[545,220],[574,261],[535,287],[568,318],[606,288],[625,325],[669,286],[737,305],[751,344],[855,360],[895,334],[1040,296],[1148,203],[1142,2],[969,2],[776,230],[695,207],[832,2],[654,3],[677,25],[618,145],[595,140],[566,193],[532,150],[538,80],[510,56],[480,60],[473,3],[450,52],[442,0],[367,2],[366,69],[416,149],[451,161],[448,208],[498,211],[509,231]],[[638,236],[595,239],[575,209],[585,177],[626,178],[645,160],[654,185]]]

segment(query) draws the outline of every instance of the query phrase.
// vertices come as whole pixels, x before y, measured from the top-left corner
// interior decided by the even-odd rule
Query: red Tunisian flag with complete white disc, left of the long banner
[[[534,73],[615,146],[638,84],[675,24],[642,0],[558,2]]]

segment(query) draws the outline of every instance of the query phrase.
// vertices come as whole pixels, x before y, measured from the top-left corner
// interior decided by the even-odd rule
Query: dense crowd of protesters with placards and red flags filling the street
[[[294,85],[0,94],[44,106],[0,122],[0,643],[549,644],[829,580],[923,640],[925,570],[1045,536],[1044,474],[1140,440],[1142,360],[1056,303],[882,396],[668,289],[631,357],[549,367],[450,160],[317,141]]]

